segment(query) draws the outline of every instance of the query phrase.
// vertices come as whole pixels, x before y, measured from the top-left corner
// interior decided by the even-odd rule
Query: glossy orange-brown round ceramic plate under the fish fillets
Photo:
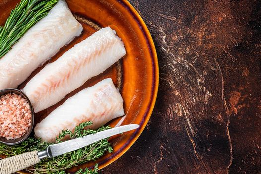
[[[83,88],[94,85],[100,80],[111,77],[120,89],[124,99],[125,117],[111,121],[111,126],[139,124],[140,128],[111,138],[114,152],[106,154],[95,163],[103,168],[122,156],[137,140],[145,128],[153,110],[158,89],[158,62],[153,40],[139,14],[127,0],[66,0],[77,20],[84,30],[80,37],[63,47],[51,61],[55,61],[65,51],[90,36],[101,27],[110,26],[122,38],[127,55],[101,75],[87,81],[82,87],[68,94],[58,104],[35,115],[35,124],[45,118],[50,112],[61,105],[68,97]],[[12,8],[19,0],[0,0],[0,25],[3,25]],[[48,50],[47,50],[48,51]],[[31,79],[41,68],[29,77]],[[28,79],[28,80],[29,80]],[[28,81],[27,80],[27,81]],[[19,88],[23,88],[23,83]],[[74,167],[69,172],[79,168],[92,167],[94,163],[86,163]]]

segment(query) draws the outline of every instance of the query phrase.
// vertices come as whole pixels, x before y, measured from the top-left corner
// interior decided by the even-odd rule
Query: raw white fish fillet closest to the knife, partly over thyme
[[[61,130],[73,131],[86,121],[93,122],[88,128],[96,129],[122,115],[123,99],[112,79],[108,78],[67,99],[38,123],[34,132],[43,141],[54,142]]]

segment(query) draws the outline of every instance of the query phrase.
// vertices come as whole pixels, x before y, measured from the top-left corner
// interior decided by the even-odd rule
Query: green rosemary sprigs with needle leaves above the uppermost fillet
[[[45,17],[49,10],[59,0],[21,0],[12,9],[4,26],[0,27],[0,58],[4,56],[26,31],[40,19]]]

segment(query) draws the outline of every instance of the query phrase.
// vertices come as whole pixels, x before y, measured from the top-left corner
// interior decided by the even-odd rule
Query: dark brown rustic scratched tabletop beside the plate
[[[154,39],[159,93],[102,174],[261,174],[261,0],[130,0]]]

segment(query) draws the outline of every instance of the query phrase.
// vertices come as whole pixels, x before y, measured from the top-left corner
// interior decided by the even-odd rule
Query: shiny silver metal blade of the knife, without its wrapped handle
[[[111,137],[113,135],[121,134],[123,132],[131,131],[137,129],[139,125],[137,124],[129,124],[120,127],[115,127],[112,129],[108,129],[105,131],[97,132],[95,134],[90,134],[84,137],[75,138],[72,140],[68,140],[62,143],[53,144],[48,146],[48,148],[44,151],[38,152],[39,159],[44,159],[46,157],[56,157],[59,155],[63,155],[67,152],[75,151],[77,149],[88,146],[94,142],[99,140]]]

